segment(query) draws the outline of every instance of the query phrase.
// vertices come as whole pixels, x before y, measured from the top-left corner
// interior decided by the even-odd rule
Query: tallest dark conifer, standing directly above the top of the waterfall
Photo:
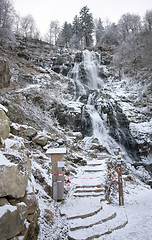
[[[92,13],[89,13],[87,6],[80,10],[80,25],[84,47],[90,47],[93,43],[94,22]]]

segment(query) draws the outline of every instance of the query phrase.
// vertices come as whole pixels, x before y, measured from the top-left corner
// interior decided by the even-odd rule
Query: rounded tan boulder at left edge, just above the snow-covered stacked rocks
[[[0,107],[0,138],[6,139],[10,133],[10,120]]]

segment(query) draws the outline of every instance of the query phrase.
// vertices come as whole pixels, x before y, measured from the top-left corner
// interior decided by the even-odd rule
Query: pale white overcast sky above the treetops
[[[146,10],[152,10],[152,0],[13,0],[15,10],[22,17],[31,14],[41,34],[49,29],[52,20],[61,25],[72,23],[82,7],[88,6],[93,18],[109,19],[117,23],[124,13],[136,13],[141,17]]]

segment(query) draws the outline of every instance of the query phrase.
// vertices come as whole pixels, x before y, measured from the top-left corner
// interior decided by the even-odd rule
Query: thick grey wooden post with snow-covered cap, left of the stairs
[[[64,195],[64,161],[63,155],[66,148],[48,149],[47,154],[51,154],[52,163],[52,198],[56,201],[63,199]]]

